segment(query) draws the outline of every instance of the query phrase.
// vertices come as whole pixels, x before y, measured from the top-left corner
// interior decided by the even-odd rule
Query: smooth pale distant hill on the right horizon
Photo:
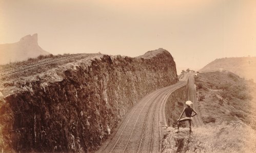
[[[241,78],[256,81],[256,57],[221,58],[212,61],[199,71],[211,71],[223,68],[231,71]]]

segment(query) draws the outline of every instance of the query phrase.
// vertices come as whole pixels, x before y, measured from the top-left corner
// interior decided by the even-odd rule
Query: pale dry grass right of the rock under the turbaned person
[[[205,152],[256,152],[256,132],[241,122],[198,127],[193,137]]]

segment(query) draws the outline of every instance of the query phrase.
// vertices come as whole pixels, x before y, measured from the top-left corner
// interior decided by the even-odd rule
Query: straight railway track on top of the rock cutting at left
[[[38,67],[38,66],[43,66],[43,65],[47,65],[47,64],[53,64],[53,63],[59,62],[61,60],[66,60],[66,59],[78,57],[78,56],[81,56],[81,55],[90,55],[90,54],[66,55],[66,56],[57,57],[57,58],[53,58],[53,59],[49,59],[49,60],[45,60],[45,61],[40,61],[40,62],[36,62],[36,63],[32,63],[32,64],[27,64],[27,65],[19,66],[19,67],[14,67],[14,68],[11,68],[11,69],[0,71],[0,76],[8,75],[8,74],[19,72],[19,71],[24,71],[24,70],[27,70],[27,69],[30,69],[30,68],[35,68],[35,67]]]

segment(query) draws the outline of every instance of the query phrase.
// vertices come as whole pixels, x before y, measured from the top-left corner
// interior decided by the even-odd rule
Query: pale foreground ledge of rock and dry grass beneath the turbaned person
[[[241,122],[206,124],[174,133],[168,127],[162,142],[162,152],[255,152],[256,132]]]

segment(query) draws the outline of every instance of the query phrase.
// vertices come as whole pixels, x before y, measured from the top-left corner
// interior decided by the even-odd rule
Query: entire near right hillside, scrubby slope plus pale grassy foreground
[[[199,73],[195,84],[204,125],[192,125],[191,135],[188,128],[175,133],[176,125],[167,127],[162,152],[255,152],[256,85],[232,72],[218,71]],[[175,105],[179,106],[178,100]]]

